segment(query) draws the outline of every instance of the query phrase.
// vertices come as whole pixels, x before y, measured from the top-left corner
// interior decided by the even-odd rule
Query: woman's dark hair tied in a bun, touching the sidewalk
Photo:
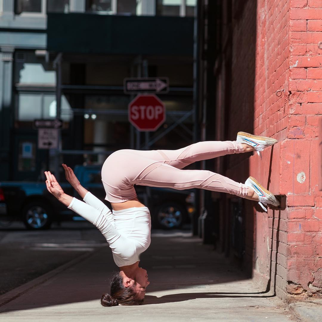
[[[136,283],[134,284],[134,286]],[[143,298],[138,299],[137,293],[133,286],[125,287],[123,284],[123,276],[119,272],[112,276],[111,295],[105,293],[102,295],[101,304],[103,306],[122,305],[141,305]]]

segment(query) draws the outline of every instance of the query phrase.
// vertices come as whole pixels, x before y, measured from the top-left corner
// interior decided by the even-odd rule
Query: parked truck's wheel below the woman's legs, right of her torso
[[[185,222],[187,212],[185,208],[177,203],[166,203],[156,209],[156,224],[159,228],[180,228]]]

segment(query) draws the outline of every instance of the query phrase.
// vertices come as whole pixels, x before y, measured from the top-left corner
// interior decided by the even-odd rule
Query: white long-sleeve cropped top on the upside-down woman
[[[151,218],[147,207],[113,210],[88,192],[82,202],[73,198],[69,209],[93,223],[106,238],[117,266],[139,261],[151,242]]]

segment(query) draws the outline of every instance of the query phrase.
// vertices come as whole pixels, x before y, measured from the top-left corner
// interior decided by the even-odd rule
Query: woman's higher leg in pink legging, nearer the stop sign
[[[196,161],[247,151],[253,151],[253,148],[236,141],[203,141],[178,150],[135,151],[134,153],[182,169]]]

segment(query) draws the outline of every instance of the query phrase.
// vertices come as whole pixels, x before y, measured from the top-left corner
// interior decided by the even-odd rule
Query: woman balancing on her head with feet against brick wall
[[[150,213],[134,190],[136,185],[174,189],[202,188],[226,192],[278,206],[274,194],[249,177],[245,184],[206,170],[181,170],[185,166],[226,154],[261,151],[277,143],[269,137],[238,132],[236,141],[206,141],[179,150],[118,150],[102,167],[102,182],[109,208],[80,185],[72,169],[63,164],[66,179],[85,201],[65,194],[50,172],[45,172],[48,191],[69,209],[93,223],[104,235],[120,272],[111,281],[111,295],[103,294],[103,306],[139,305],[149,285],[139,255],[150,245]],[[266,209],[265,209],[266,211]]]

